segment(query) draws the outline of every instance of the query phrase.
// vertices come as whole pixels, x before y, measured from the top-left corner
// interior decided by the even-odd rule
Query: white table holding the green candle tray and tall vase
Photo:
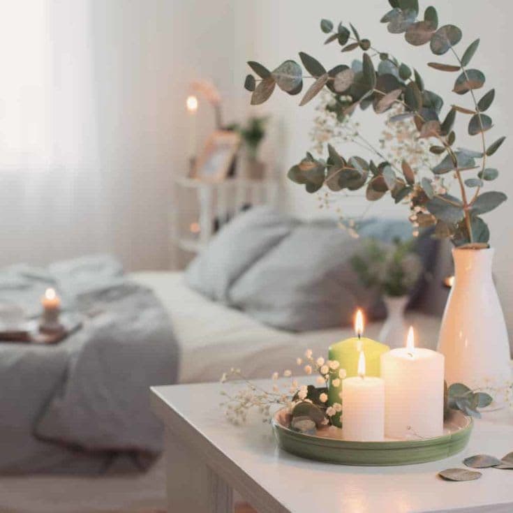
[[[477,420],[468,447],[451,458],[351,467],[308,461],[278,449],[271,427],[256,414],[246,426],[232,426],[218,406],[226,386],[152,389],[154,412],[165,424],[169,512],[231,512],[233,489],[260,513],[513,512],[513,470],[482,469],[482,477],[472,482],[445,482],[436,476],[445,468],[464,467],[466,456],[500,458],[513,451],[509,409]]]

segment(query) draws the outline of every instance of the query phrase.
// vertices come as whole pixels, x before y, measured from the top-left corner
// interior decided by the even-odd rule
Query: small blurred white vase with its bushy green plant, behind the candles
[[[422,262],[414,251],[414,242],[414,239],[394,239],[392,244],[386,244],[369,239],[364,242],[364,251],[351,258],[351,265],[363,285],[382,295],[387,320],[379,339],[390,348],[404,345],[408,329],[404,310],[410,292],[422,274]]]

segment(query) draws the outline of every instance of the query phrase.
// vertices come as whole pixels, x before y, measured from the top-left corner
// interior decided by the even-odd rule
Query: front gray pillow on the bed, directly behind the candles
[[[299,225],[232,285],[230,304],[290,331],[348,325],[377,299],[350,264],[361,247],[335,223]]]

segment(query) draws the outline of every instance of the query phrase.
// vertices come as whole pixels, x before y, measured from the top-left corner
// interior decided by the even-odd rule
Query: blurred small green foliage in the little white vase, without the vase
[[[364,251],[351,258],[359,280],[387,296],[407,295],[422,274],[422,263],[414,241],[394,240],[385,244],[375,239],[364,242]]]

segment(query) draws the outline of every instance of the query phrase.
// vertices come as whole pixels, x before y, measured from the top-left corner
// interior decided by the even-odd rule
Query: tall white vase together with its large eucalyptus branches
[[[315,193],[323,186],[334,192],[364,190],[367,200],[392,198],[408,208],[414,228],[434,225],[435,236],[454,244],[456,267],[438,341],[445,355],[449,383],[466,382],[472,387],[503,387],[511,379],[510,348],[503,312],[491,277],[493,248],[483,216],[506,200],[500,191],[484,190],[498,177],[491,167],[491,157],[505,137],[489,139],[492,119],[485,113],[495,98],[494,89],[477,95],[485,76],[470,67],[479,39],[456,50],[462,39],[461,29],[440,24],[436,9],[429,6],[419,13],[418,0],[389,0],[391,8],[382,17],[392,34],[403,34],[410,45],[429,44],[436,61],[427,65],[440,73],[454,73],[454,88],[447,105],[443,98],[424,84],[418,68],[399,61],[385,50],[378,50],[369,38],[359,34],[352,24],[335,26],[322,20],[325,44],[336,45],[342,55],[359,50],[361,60],[327,69],[304,52],[302,66],[287,60],[274,70],[255,61],[248,62],[254,75],[248,75],[245,87],[252,91],[251,103],[263,103],[276,86],[290,95],[302,91],[304,78],[312,83],[300,105],[311,101],[321,90],[332,94],[339,119],[352,116],[357,107],[372,107],[376,114],[399,105],[401,112],[392,121],[408,119],[416,136],[429,141],[430,151],[439,156],[431,168],[411,165],[403,160],[394,165],[383,158],[371,144],[372,156],[347,156],[327,144],[325,158],[307,153],[292,166],[288,177]],[[449,59],[439,61],[441,56]],[[255,76],[256,75],[256,76]],[[465,102],[463,102],[465,101]],[[466,117],[470,135],[477,139],[475,149],[456,143],[454,120]],[[452,186],[456,192],[452,192]]]

